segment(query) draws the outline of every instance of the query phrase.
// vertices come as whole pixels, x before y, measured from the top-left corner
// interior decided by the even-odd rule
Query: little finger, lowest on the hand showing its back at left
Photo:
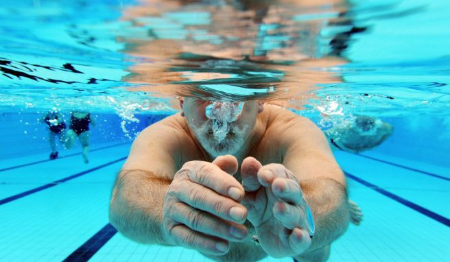
[[[170,235],[177,246],[191,248],[206,254],[225,254],[230,250],[228,241],[196,232],[183,224],[171,228]]]

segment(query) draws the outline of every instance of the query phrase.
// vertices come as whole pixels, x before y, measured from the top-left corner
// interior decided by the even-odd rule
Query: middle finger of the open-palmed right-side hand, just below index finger
[[[289,204],[302,205],[303,193],[298,182],[289,178],[275,178],[272,182],[274,195]]]

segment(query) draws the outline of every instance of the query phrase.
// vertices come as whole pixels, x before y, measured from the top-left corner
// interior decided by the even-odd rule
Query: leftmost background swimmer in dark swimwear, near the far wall
[[[66,129],[66,123],[64,123],[64,117],[58,112],[57,108],[52,108],[45,114],[40,122],[46,123],[49,127],[49,143],[51,148],[50,160],[58,158],[58,151],[56,150],[56,136],[60,142],[64,141],[64,130]]]

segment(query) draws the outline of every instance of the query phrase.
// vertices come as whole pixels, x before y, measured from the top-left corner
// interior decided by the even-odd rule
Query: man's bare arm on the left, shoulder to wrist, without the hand
[[[165,243],[161,230],[164,196],[176,172],[176,145],[167,136],[171,132],[156,123],[139,134],[112,191],[111,224],[139,243]]]

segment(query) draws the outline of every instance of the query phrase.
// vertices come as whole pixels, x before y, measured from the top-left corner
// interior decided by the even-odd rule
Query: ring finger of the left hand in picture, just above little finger
[[[210,213],[194,209],[185,203],[176,202],[172,210],[172,219],[205,235],[220,237],[230,241],[239,241],[247,235],[246,226],[222,220]]]

